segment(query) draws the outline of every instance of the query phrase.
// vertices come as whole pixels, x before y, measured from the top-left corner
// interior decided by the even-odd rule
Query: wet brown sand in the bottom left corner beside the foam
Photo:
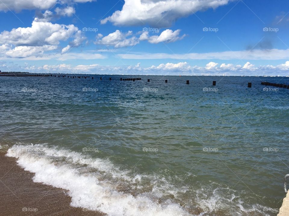
[[[33,176],[18,166],[15,158],[0,153],[0,216],[105,215],[70,206],[71,197],[65,190],[35,183]]]

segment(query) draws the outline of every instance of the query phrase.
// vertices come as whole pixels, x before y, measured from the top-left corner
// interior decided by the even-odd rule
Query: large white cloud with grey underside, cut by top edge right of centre
[[[216,8],[229,0],[125,0],[122,10],[102,19],[116,26],[150,24],[154,27],[169,27],[176,19],[199,10]]]

